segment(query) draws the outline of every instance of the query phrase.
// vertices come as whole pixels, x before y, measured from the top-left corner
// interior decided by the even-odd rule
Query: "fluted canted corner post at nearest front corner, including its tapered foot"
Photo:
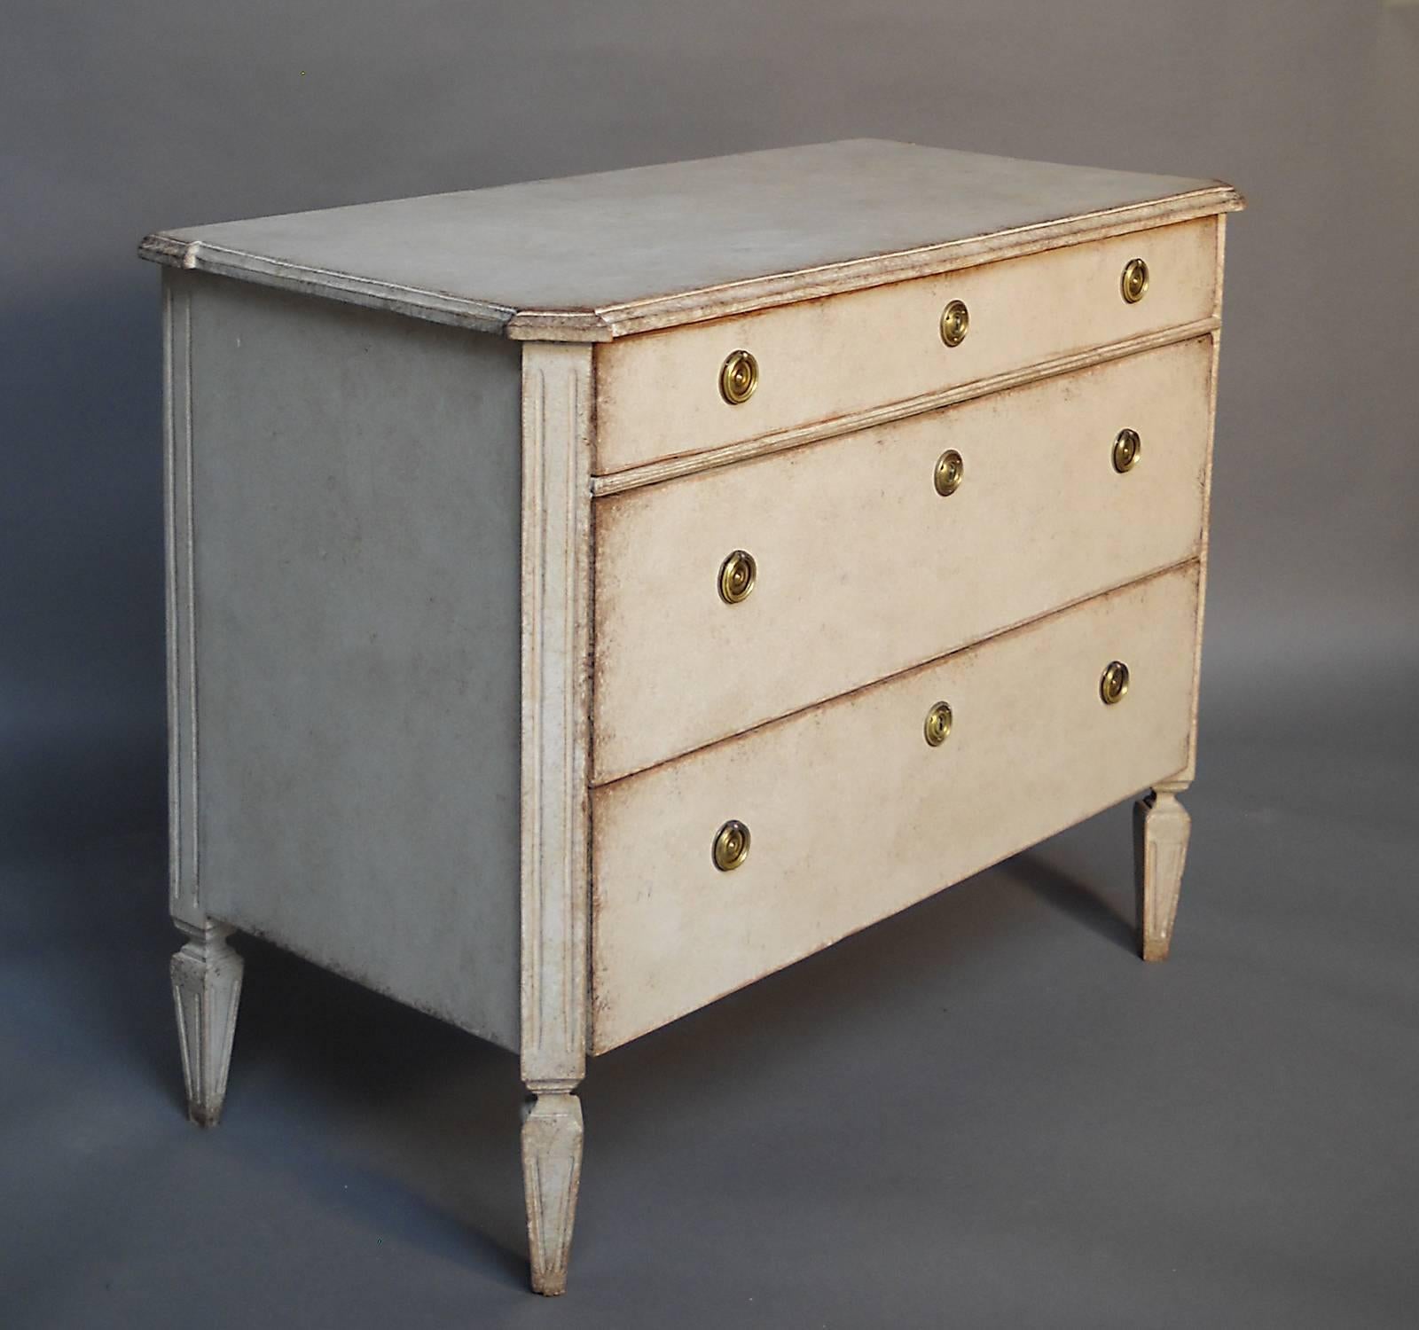
[[[532,1287],[566,1289],[590,882],[592,354],[522,352],[522,1124]]]

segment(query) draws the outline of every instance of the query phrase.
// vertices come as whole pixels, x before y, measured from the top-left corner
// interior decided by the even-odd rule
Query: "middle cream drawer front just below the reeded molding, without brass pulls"
[[[597,499],[593,781],[1189,559],[1210,376],[1203,337]],[[753,586],[727,604],[736,550]]]

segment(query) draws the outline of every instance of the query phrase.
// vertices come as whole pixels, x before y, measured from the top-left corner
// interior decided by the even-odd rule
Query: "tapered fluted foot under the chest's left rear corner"
[[[201,1127],[214,1127],[227,1093],[227,1063],[241,997],[241,957],[227,946],[231,930],[224,924],[177,923],[177,927],[189,939],[172,959],[187,1116]]]

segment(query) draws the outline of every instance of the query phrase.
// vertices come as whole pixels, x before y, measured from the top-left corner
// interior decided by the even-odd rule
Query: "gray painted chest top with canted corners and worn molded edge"
[[[1236,207],[1213,180],[853,139],[176,227],[140,252],[517,337],[606,340]]]

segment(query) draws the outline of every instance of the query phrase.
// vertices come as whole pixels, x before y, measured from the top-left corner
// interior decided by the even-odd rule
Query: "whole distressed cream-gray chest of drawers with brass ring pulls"
[[[165,231],[172,966],[589,1055],[1120,800],[1188,842],[1216,181],[854,140]]]

